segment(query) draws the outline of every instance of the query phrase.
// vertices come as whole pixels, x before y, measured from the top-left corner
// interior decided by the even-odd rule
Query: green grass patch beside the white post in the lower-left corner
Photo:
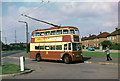
[[[27,69],[27,68],[25,68]],[[13,74],[13,73],[20,73],[20,66],[11,64],[11,63],[3,63],[2,65],[2,74]]]

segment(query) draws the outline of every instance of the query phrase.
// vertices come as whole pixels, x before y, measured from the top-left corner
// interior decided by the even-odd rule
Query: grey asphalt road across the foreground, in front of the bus
[[[19,53],[19,55],[24,53]],[[18,54],[11,55],[11,57]],[[3,62],[19,65],[19,58],[5,57]],[[96,63],[64,64],[59,61],[36,62],[26,59],[26,67],[33,70],[32,73],[6,79],[118,79],[118,66]]]

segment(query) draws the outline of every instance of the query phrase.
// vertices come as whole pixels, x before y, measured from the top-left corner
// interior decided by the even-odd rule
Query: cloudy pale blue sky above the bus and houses
[[[94,1],[38,1],[5,0],[2,2],[0,21],[2,22],[2,41],[10,44],[26,42],[26,21],[29,26],[29,40],[31,32],[36,29],[52,26],[26,18],[21,14],[48,21],[61,26],[75,26],[80,30],[80,36],[98,35],[100,32],[113,32],[118,26],[118,2],[115,0]],[[6,39],[5,39],[6,38]],[[5,41],[6,40],[6,41]]]

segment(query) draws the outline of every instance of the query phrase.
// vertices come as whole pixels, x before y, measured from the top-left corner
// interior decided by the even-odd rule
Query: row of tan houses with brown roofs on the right
[[[101,47],[101,42],[109,40],[112,43],[120,43],[120,29],[115,28],[112,33],[100,32],[98,35],[89,35],[89,37],[82,37],[82,45],[85,47]]]

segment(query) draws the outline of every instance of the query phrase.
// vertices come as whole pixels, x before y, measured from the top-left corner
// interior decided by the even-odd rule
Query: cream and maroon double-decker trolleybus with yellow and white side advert
[[[82,61],[80,32],[77,27],[63,26],[35,30],[31,34],[30,58],[36,61]]]

